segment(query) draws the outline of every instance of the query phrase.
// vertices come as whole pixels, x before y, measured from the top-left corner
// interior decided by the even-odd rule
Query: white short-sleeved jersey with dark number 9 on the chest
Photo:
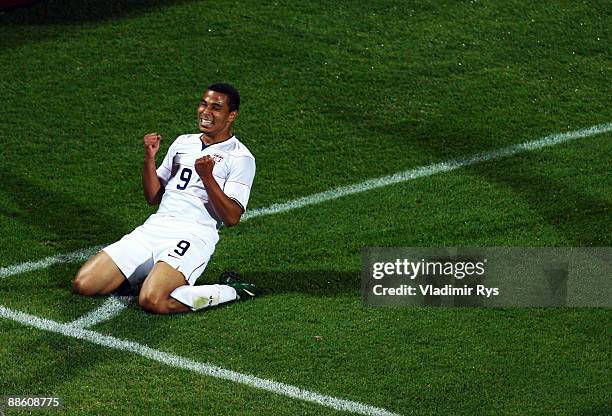
[[[236,136],[212,145],[206,145],[200,137],[201,134],[185,134],[170,145],[157,168],[157,176],[165,188],[161,204],[146,223],[171,222],[216,244],[221,219],[208,200],[195,170],[195,161],[211,156],[215,160],[213,175],[217,183],[245,211],[255,177],[255,158]]]

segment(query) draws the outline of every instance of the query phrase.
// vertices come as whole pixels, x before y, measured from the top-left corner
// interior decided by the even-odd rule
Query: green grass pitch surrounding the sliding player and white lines
[[[249,209],[612,121],[598,1],[70,1],[0,14],[0,267],[117,240],[154,208],[142,136],[196,131],[203,89],[242,95]],[[365,247],[611,246],[612,134],[491,160],[221,232],[200,282],[267,296],[90,328],[401,415],[609,415],[612,313],[371,308]],[[161,156],[158,157],[161,161]],[[0,305],[70,322],[79,262],[0,277]],[[64,414],[346,412],[0,318],[0,396]],[[5,410],[5,414],[25,414]],[[32,414],[58,414],[33,410]]]

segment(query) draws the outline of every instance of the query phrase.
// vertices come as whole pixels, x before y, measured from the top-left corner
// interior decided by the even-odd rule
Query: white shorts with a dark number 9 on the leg
[[[103,250],[131,285],[142,283],[158,261],[174,267],[193,285],[215,251],[215,243],[172,223],[145,223]]]

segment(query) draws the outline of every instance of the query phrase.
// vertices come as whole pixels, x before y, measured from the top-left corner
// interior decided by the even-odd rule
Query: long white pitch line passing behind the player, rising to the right
[[[247,211],[242,221],[247,221],[251,218],[262,217],[265,215],[280,214],[294,209],[302,208],[308,205],[320,204],[322,202],[338,199],[343,196],[353,195],[361,192],[366,192],[376,188],[393,185],[396,183],[407,182],[413,179],[432,176],[438,173],[450,172],[465,166],[474,165],[476,163],[487,162],[504,157],[514,156],[528,150],[536,150],[544,147],[555,146],[570,140],[581,139],[584,137],[595,136],[602,133],[612,131],[612,123],[597,124],[586,129],[575,130],[566,133],[552,134],[538,140],[533,140],[513,146],[504,147],[502,149],[493,150],[490,152],[478,153],[476,155],[463,158],[450,159],[445,162],[435,163],[428,166],[422,166],[415,169],[408,169],[402,172],[397,172],[393,175],[382,176],[379,178],[369,179],[354,185],[340,186],[330,189],[329,191],[319,192],[313,195],[294,199],[293,201],[272,204],[266,208],[257,208]],[[96,246],[75,251],[68,254],[47,257],[40,261],[27,262],[14,266],[0,268],[0,278],[12,276],[19,273],[25,273],[32,270],[44,269],[56,263],[66,263],[70,261],[82,261],[100,250],[103,246]]]

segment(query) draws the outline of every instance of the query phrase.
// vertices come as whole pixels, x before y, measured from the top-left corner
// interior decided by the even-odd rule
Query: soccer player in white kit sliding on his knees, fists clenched
[[[195,286],[219,240],[244,213],[255,158],[232,133],[240,95],[229,84],[210,85],[198,106],[199,134],[179,136],[156,168],[161,137],[144,136],[142,186],[159,209],[143,225],[91,257],[73,282],[75,293],[104,295],[142,283],[138,301],[152,313],[196,311],[255,297],[255,285],[234,273],[219,284]]]

